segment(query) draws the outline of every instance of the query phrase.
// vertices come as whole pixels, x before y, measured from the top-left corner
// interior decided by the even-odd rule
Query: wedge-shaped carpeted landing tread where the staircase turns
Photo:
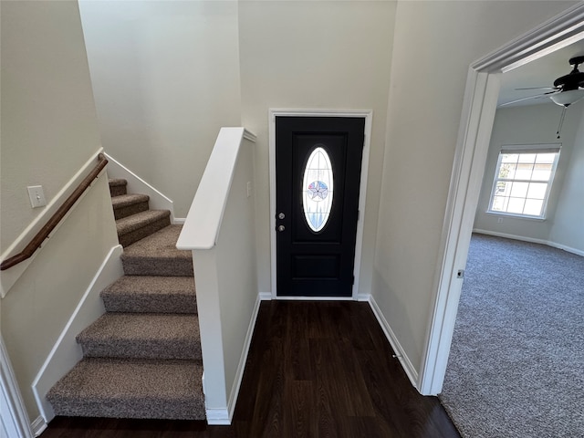
[[[124,248],[123,258],[156,257],[192,259],[191,251],[176,248],[182,225],[169,225]]]

